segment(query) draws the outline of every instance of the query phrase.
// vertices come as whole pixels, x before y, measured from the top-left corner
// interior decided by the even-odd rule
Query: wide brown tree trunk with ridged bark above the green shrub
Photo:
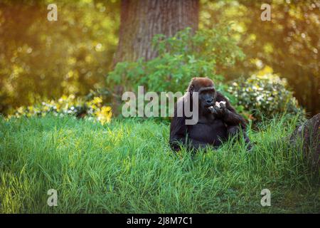
[[[198,0],[122,0],[119,45],[114,63],[150,60],[156,34],[174,36],[186,27],[198,28]]]

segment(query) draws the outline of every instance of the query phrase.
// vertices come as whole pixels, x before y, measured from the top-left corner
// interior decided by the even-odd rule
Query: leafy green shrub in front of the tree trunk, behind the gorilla
[[[231,66],[244,56],[225,24],[196,33],[186,28],[169,38],[156,35],[153,44],[158,57],[117,63],[107,77],[108,85],[121,84],[125,91],[137,90],[138,86],[155,92],[184,91],[193,77],[222,79],[216,68]]]

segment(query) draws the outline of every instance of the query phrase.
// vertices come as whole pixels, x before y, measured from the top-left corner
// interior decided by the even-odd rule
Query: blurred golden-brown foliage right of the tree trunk
[[[235,37],[247,58],[233,68],[220,68],[230,79],[248,77],[265,66],[287,78],[299,103],[320,112],[320,1],[201,0],[200,27],[233,22]],[[270,4],[271,21],[261,21],[261,4]]]

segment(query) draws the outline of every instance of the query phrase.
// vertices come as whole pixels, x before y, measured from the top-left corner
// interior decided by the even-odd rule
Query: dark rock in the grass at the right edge
[[[303,140],[303,152],[306,158],[311,162],[311,167],[319,169],[320,167],[320,113],[314,115],[311,119],[300,125],[290,136],[290,142],[297,144],[298,138]]]

